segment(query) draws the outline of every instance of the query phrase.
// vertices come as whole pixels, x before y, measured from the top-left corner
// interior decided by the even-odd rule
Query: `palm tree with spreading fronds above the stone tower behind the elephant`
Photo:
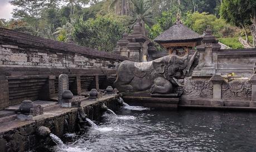
[[[146,36],[146,28],[147,26],[152,27],[154,25],[154,19],[152,18],[152,8],[145,7],[144,0],[131,0],[135,10],[133,12],[132,24],[136,22],[140,22],[142,26],[143,35]]]

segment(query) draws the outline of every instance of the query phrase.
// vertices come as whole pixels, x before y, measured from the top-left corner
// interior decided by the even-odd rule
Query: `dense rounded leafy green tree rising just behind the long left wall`
[[[101,51],[113,51],[117,41],[128,30],[128,26],[118,18],[108,16],[98,16],[88,21],[80,20],[74,27],[73,36],[79,45]]]

